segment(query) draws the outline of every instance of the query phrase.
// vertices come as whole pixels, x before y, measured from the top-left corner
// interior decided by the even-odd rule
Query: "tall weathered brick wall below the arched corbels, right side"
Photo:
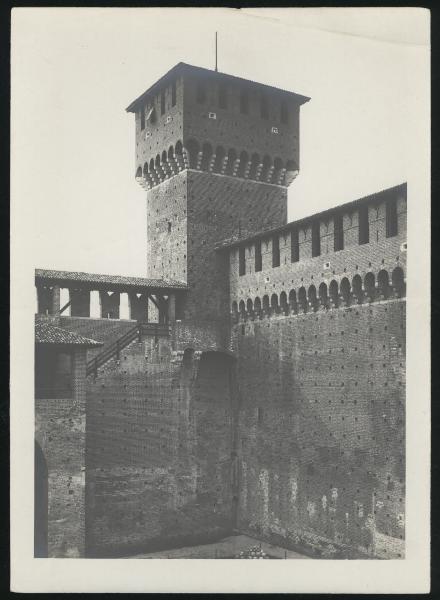
[[[403,557],[405,302],[248,321],[232,337],[239,529],[315,556]]]

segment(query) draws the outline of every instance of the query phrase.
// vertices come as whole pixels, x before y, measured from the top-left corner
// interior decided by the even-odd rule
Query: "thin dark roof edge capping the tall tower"
[[[301,94],[296,94],[295,92],[290,92],[288,90],[284,90],[281,88],[277,88],[271,85],[266,85],[264,83],[260,83],[258,81],[253,81],[252,79],[244,79],[243,77],[237,77],[235,75],[229,75],[228,73],[220,73],[218,71],[213,71],[211,69],[205,69],[204,67],[196,67],[194,65],[189,65],[184,62],[177,63],[174,65],[172,69],[170,69],[165,75],[163,75],[160,79],[158,79],[153,85],[151,85],[145,92],[143,92],[140,96],[138,96],[131,104],[127,106],[125,109],[127,112],[136,112],[138,107],[142,105],[146,98],[151,94],[155,93],[156,90],[160,89],[164,84],[168,81],[172,80],[174,77],[185,74],[194,74],[203,76],[206,78],[210,78],[218,81],[230,81],[235,83],[240,83],[242,85],[254,86],[261,90],[267,90],[271,92],[278,92],[282,94],[286,94],[291,98],[295,98],[299,105],[305,104],[310,100],[308,96],[303,96]]]

